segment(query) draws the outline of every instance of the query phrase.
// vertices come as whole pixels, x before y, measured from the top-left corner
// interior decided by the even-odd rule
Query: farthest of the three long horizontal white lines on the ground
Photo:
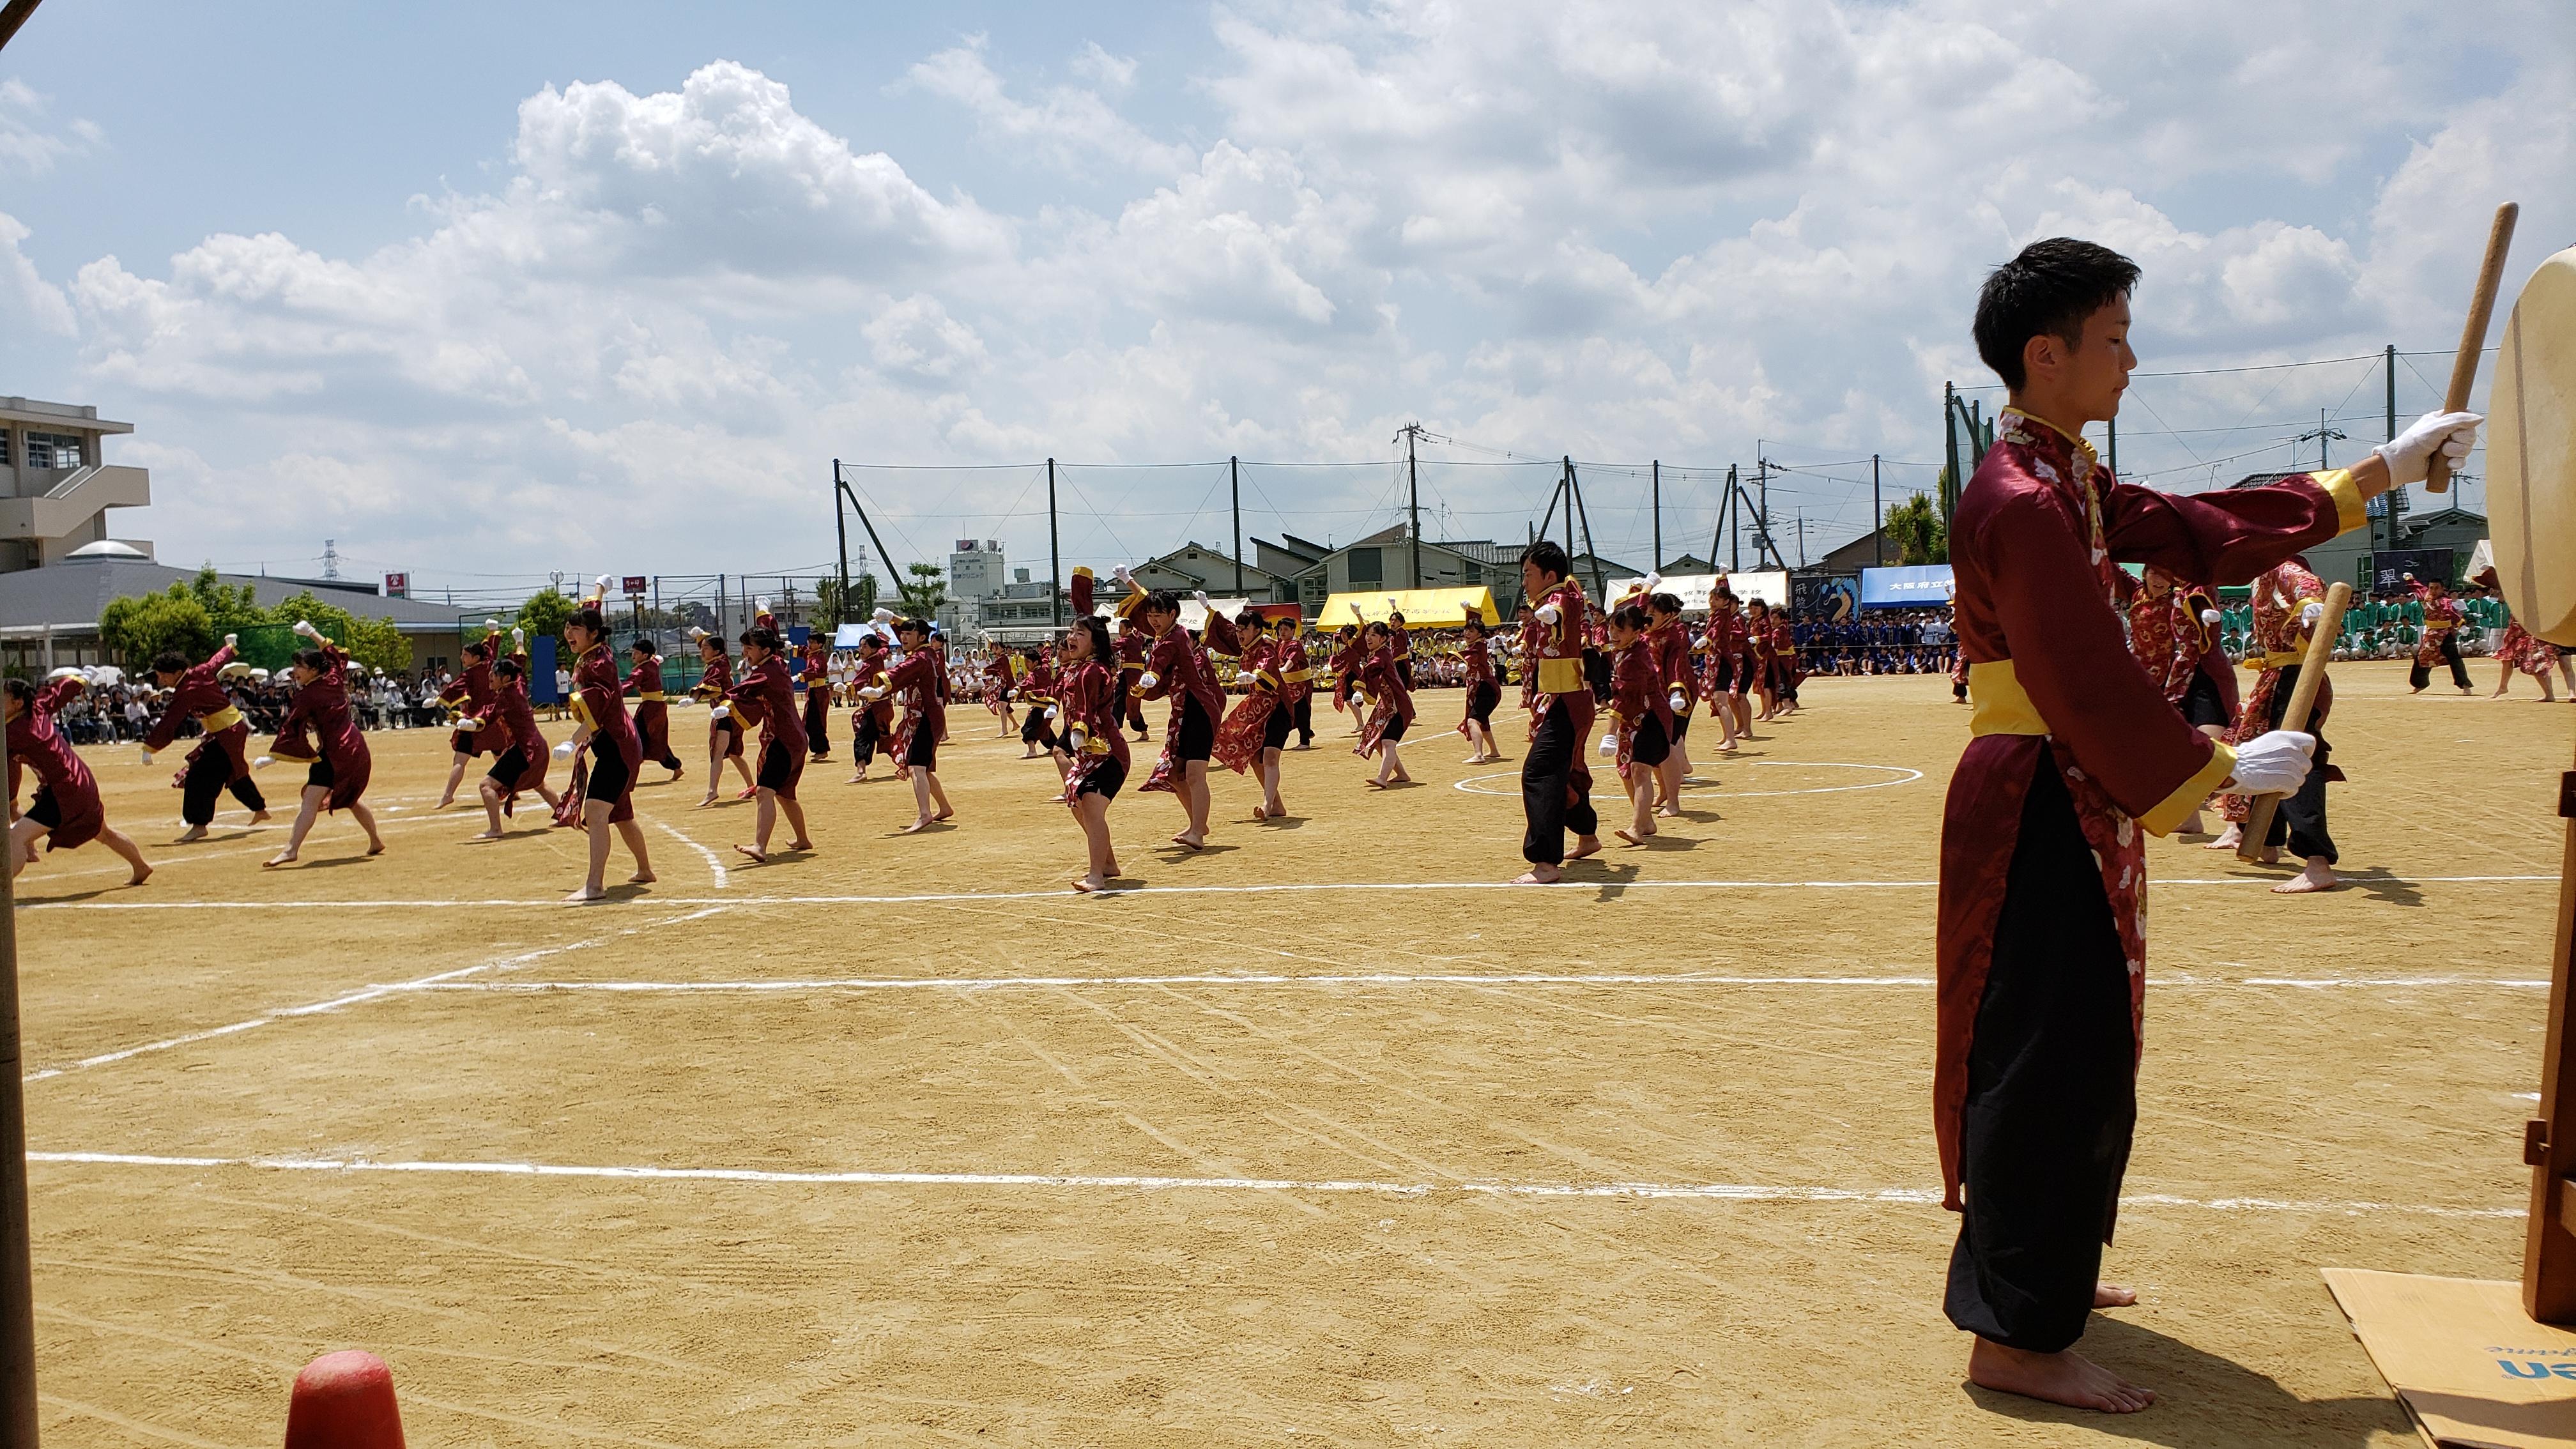
[[[2282,877],[2218,877],[2218,879],[2154,879],[2148,884],[2280,884]],[[2344,877],[2349,884],[2506,884],[2550,882],[2558,877]],[[1556,884],[1504,884],[1504,882],[1275,882],[1275,884],[1139,884],[1092,892],[1090,900],[1115,900],[1123,895],[1296,895],[1327,890],[1932,890],[1929,879],[1564,879]],[[634,905],[943,905],[992,900],[1074,900],[1066,890],[963,890],[935,895],[641,895]],[[28,900],[18,910],[505,910],[505,908],[559,908],[549,900]]]

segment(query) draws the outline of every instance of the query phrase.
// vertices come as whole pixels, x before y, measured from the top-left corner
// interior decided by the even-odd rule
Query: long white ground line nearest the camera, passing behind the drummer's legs
[[[1010,1186],[1010,1189],[1144,1189],[1144,1191],[1332,1191],[1430,1196],[1468,1191],[1486,1196],[1659,1196],[1705,1201],[1865,1201],[1929,1207],[1929,1189],[1829,1189],[1770,1183],[1378,1183],[1363,1178],[1164,1178],[1095,1173],[791,1173],[768,1168],[616,1168],[562,1163],[379,1163],[371,1158],[160,1158],[144,1152],[28,1152],[28,1163],[111,1165],[111,1168],[263,1168],[286,1173],[456,1173],[502,1178],[626,1178],[626,1181],[703,1181],[703,1183],[788,1183],[788,1186]],[[2269,1196],[2174,1196],[2130,1194],[2123,1207],[2202,1207],[2210,1212],[2411,1212],[2424,1217],[2524,1217],[2519,1207],[2434,1207],[2391,1201],[2290,1201]]]

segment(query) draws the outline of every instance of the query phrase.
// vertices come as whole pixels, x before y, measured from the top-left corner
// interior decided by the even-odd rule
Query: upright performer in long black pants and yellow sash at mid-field
[[[1520,856],[1530,861],[1515,884],[1553,884],[1564,864],[1602,848],[1600,815],[1592,812],[1592,768],[1584,740],[1592,735],[1592,683],[1584,678],[1587,608],[1584,585],[1571,572],[1566,549],[1540,539],[1520,552],[1520,588],[1535,603],[1538,639],[1522,668],[1533,673],[1538,714],[1530,753],[1520,761],[1520,810],[1528,830]],[[1566,851],[1574,830],[1574,851]]]

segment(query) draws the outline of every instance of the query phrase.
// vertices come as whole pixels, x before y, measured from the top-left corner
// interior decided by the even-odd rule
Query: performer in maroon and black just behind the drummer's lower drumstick
[[[2254,688],[2246,694],[2228,740],[2254,740],[2269,730],[2280,730],[2282,714],[2290,709],[2290,694],[2298,688],[2298,673],[2306,668],[2308,639],[2316,634],[2324,614],[2326,585],[2308,572],[2308,562],[2300,557],[2290,557],[2254,580],[2254,647],[2259,652],[2246,655],[2246,665],[2259,665],[2262,673],[2254,678]],[[2334,745],[2326,743],[2326,714],[2331,712],[2334,681],[2326,678],[2318,681],[2316,704],[2308,709],[2308,722],[2300,724],[2303,732],[2316,737],[2316,748],[2308,753],[2308,779],[2282,797],[2280,810],[2272,812],[2272,830],[2264,835],[2262,853],[2257,856],[2269,866],[2280,861],[2280,848],[2290,846],[2290,853],[2306,861],[2306,866],[2298,877],[2272,887],[2272,895],[2306,895],[2334,890],[2336,884],[2336,848],[2334,835],[2326,833],[2326,781],[2344,779],[2344,771],[2331,763]],[[2244,841],[2244,825],[2254,815],[2254,802],[2246,794],[2228,794],[2218,802],[2218,810],[2228,817],[2228,828],[2202,848],[2233,851]]]

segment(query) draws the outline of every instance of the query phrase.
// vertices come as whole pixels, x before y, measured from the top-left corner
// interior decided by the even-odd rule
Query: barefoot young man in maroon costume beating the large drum
[[[1950,526],[1958,642],[1976,699],[1940,851],[1940,1029],[1932,1119],[1960,1212],[1950,1323],[1968,1377],[2130,1413],[2154,1392],[2074,1354],[2094,1307],[2136,1129],[2146,985],[2146,830],[2213,789],[2275,794],[2311,735],[2228,748],[2164,699],[2120,632],[2120,562],[2236,583],[2362,523],[2362,503],[2465,454],[2476,415],[2416,420],[2365,464],[2197,498],[2123,485],[2084,428],[2120,413],[2138,364],[2138,268],[2076,240],[1986,278],[1976,351],[2009,389],[1996,443]]]

